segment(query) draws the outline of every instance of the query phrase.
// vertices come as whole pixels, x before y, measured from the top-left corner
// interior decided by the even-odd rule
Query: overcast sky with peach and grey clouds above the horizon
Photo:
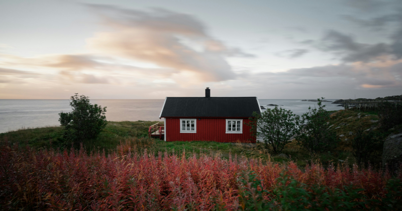
[[[400,0],[3,0],[0,98],[402,94]]]

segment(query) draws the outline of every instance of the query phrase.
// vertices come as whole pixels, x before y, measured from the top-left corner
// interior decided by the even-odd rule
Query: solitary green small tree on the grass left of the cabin
[[[59,122],[64,126],[64,137],[75,143],[96,138],[108,124],[106,107],[90,104],[89,97],[75,93],[70,97],[72,112],[59,114]]]

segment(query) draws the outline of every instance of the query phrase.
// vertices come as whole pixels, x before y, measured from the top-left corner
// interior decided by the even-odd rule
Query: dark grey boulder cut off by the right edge
[[[395,170],[400,162],[402,162],[402,133],[391,134],[384,142],[382,164],[387,164],[390,170]]]

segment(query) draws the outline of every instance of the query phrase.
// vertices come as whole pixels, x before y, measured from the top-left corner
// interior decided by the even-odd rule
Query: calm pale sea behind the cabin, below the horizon
[[[301,99],[259,99],[260,105],[278,104],[297,115],[308,111],[317,102]],[[333,101],[334,99],[328,99]],[[91,99],[92,104],[106,106],[109,121],[157,121],[164,99]],[[325,102],[328,111],[340,110],[336,104]],[[68,99],[0,99],[0,133],[21,128],[58,126],[58,114],[70,112]],[[262,110],[264,111],[264,110]]]

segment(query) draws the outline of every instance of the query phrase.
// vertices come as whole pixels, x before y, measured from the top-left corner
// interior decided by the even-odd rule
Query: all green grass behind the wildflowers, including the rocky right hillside
[[[333,112],[331,112],[333,113]],[[360,118],[359,118],[360,116]],[[332,115],[328,127],[333,125],[332,130],[336,130],[340,143],[337,149],[321,153],[319,155],[311,156],[308,152],[301,149],[295,142],[286,145],[283,153],[290,156],[290,159],[272,156],[270,157],[267,150],[262,144],[257,144],[256,147],[248,148],[240,144],[231,143],[218,143],[218,142],[163,142],[159,140],[149,140],[148,128],[157,122],[109,122],[105,130],[100,133],[96,140],[89,140],[83,143],[88,151],[105,150],[106,153],[111,150],[116,150],[117,146],[123,144],[129,148],[140,148],[142,151],[146,148],[155,154],[158,152],[169,153],[182,153],[183,151],[197,154],[214,153],[220,154],[222,157],[232,156],[246,156],[250,158],[261,158],[264,160],[272,159],[272,161],[283,162],[293,160],[300,167],[306,166],[312,160],[320,160],[324,165],[333,162],[335,164],[347,160],[351,165],[355,159],[351,153],[351,139],[353,139],[355,131],[358,128],[364,130],[371,128],[371,130],[378,131],[378,116],[373,112],[360,112],[360,111],[341,111]],[[340,127],[340,128],[337,128]],[[352,135],[349,135],[352,132]],[[339,135],[344,135],[340,138]],[[140,139],[139,139],[140,138]],[[345,141],[345,139],[347,139]],[[63,145],[62,128],[60,127],[47,127],[36,128],[27,130],[18,130],[9,133],[0,134],[0,141],[8,140],[12,143],[19,143],[20,145],[29,145],[32,147],[53,147],[53,148],[67,148],[71,145]],[[128,150],[128,148],[126,149]],[[375,163],[379,162],[376,159]]]

